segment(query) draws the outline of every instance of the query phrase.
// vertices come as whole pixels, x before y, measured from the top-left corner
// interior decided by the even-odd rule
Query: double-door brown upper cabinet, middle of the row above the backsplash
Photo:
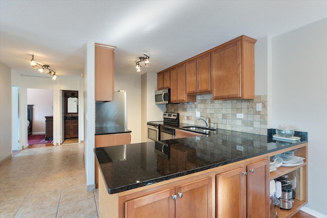
[[[186,93],[211,92],[210,53],[186,63]]]

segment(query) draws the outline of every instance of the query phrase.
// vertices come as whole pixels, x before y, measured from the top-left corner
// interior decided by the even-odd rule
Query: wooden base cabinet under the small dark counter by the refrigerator
[[[106,135],[96,135],[95,136],[95,148],[108,147],[108,146],[118,146],[120,144],[130,144],[131,143],[131,133],[118,133],[118,134],[106,134]],[[96,188],[99,184],[99,167],[98,161],[95,158],[95,183]]]

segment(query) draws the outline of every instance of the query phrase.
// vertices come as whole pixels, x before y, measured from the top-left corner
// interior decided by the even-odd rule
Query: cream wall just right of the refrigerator
[[[141,75],[114,74],[114,90],[126,90],[127,129],[131,130],[131,143],[141,142]]]

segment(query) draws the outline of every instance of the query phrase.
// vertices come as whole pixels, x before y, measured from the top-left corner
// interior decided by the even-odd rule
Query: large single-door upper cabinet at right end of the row
[[[254,43],[240,36],[211,52],[214,100],[254,99]]]

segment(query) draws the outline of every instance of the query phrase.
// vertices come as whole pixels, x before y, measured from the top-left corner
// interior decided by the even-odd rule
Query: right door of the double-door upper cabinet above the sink
[[[205,93],[211,91],[210,54],[203,55],[197,59],[197,91]]]

